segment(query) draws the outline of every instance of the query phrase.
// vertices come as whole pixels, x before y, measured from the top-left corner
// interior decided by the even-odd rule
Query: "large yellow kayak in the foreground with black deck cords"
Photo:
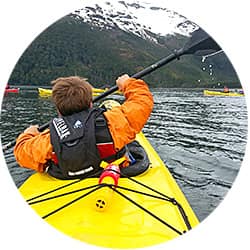
[[[58,180],[35,173],[19,190],[45,221],[86,243],[141,248],[174,239],[199,221],[142,132],[136,140],[147,153],[150,167],[136,177],[119,178],[113,189],[98,184],[98,178]]]

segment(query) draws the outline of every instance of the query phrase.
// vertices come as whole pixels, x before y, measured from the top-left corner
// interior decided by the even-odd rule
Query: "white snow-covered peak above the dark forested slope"
[[[151,2],[150,2],[151,1]],[[197,25],[184,16],[167,9],[153,0],[85,0],[83,8],[76,10],[75,17],[100,29],[119,28],[144,39],[157,42],[155,35],[181,34],[189,36]],[[163,5],[164,4],[164,5]]]

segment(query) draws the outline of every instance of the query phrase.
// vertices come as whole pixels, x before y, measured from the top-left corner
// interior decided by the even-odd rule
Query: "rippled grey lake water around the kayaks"
[[[245,98],[205,97],[201,89],[152,92],[154,110],[143,132],[203,220],[223,200],[240,170],[247,142]],[[2,144],[55,115],[50,99],[39,97],[36,89],[8,94],[1,111]],[[19,187],[33,171],[20,168],[11,149],[4,155]]]

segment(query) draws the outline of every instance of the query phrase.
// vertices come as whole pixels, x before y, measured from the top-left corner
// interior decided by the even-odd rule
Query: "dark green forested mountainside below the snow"
[[[95,87],[111,86],[118,75],[142,70],[181,48],[188,38],[159,39],[161,44],[156,44],[118,28],[100,30],[68,15],[32,42],[18,60],[9,84],[50,85],[57,77],[80,75]],[[144,79],[153,87],[214,87],[218,82],[240,86],[224,53],[205,62],[198,56],[183,56]]]

